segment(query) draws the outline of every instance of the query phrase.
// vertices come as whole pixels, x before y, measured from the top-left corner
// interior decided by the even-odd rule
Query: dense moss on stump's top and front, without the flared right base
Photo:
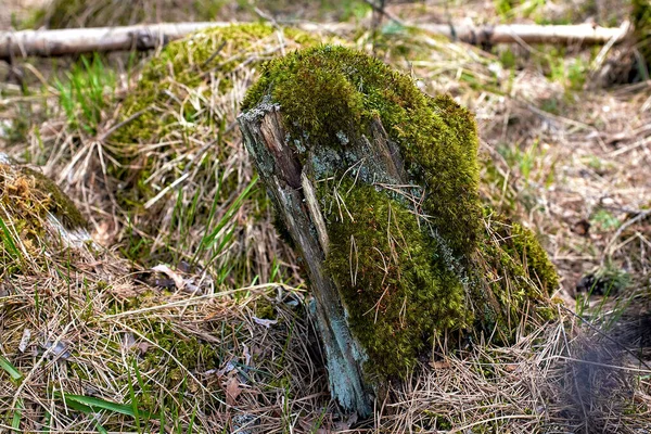
[[[365,183],[355,188],[355,170],[337,181],[349,218],[339,218],[332,189],[320,189],[324,209],[332,210],[326,216],[331,232],[326,266],[369,354],[369,372],[403,375],[436,333],[462,329],[471,318],[461,264],[480,232],[474,118],[449,97],[427,97],[409,77],[343,47],[270,62],[244,110],[267,94],[282,107],[290,142],[320,179],[346,171],[355,163],[346,162],[346,146],[360,135],[371,137],[371,124],[380,119],[399,146],[411,183],[425,187],[419,212],[404,197],[368,186],[372,170],[361,168]]]

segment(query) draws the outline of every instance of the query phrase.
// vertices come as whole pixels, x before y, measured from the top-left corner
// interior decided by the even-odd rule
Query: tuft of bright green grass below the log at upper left
[[[56,79],[55,88],[68,124],[92,136],[115,92],[115,73],[104,66],[99,54],[82,56],[63,81]]]

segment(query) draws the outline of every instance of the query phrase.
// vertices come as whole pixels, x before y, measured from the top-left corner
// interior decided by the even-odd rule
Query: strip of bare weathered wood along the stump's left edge
[[[334,282],[323,271],[326,253],[316,235],[315,220],[319,221],[319,217],[314,217],[318,208],[305,206],[302,183],[306,187],[309,180],[302,177],[303,168],[284,141],[279,107],[261,104],[242,114],[238,120],[246,149],[305,261],[326,347],[330,390],[344,408],[355,409],[366,417],[371,412],[372,397],[362,380],[363,354],[346,326],[346,315]]]

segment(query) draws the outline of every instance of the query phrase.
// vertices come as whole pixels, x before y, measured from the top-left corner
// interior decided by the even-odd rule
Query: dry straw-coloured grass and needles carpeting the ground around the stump
[[[425,11],[408,4],[392,11],[425,20],[439,14],[434,3],[427,2]],[[97,432],[97,422],[112,431],[158,432],[161,420],[165,432],[649,430],[651,370],[623,349],[648,343],[622,339],[634,326],[616,324],[625,310],[630,316],[649,311],[651,87],[642,82],[608,90],[571,89],[567,68],[563,75],[550,74],[541,48],[524,49],[526,66],[509,69],[500,58],[474,48],[404,31],[386,33],[374,42],[378,55],[412,74],[424,90],[450,92],[477,114],[483,197],[540,234],[563,281],[557,294],[565,305],[559,307],[560,319],[539,327],[523,324],[518,342],[508,347],[484,345],[477,336],[472,345],[423,360],[409,381],[393,385],[386,400],[378,403],[372,421],[360,423],[340,414],[330,400],[306,314],[309,296],[294,259],[282,253],[270,216],[251,226],[246,216],[257,205],[246,202],[229,218],[228,227],[237,228],[239,235],[224,260],[186,268],[183,261],[194,253],[203,227],[200,220],[184,228],[191,240],[178,233],[168,237],[165,222],[179,207],[176,186],[156,200],[156,216],[140,216],[132,225],[135,209],[116,199],[119,179],[107,169],[116,154],[107,132],[120,122],[119,102],[135,89],[135,81],[119,74],[126,69],[115,69],[116,84],[105,89],[115,97],[106,95],[110,104],[95,133],[89,133],[72,127],[58,108],[60,89],[47,75],[48,87],[37,85],[35,95],[2,85],[0,131],[5,125],[15,132],[26,113],[35,118],[40,113],[46,122],[26,126],[27,141],[11,144],[7,135],[0,135],[0,143],[16,159],[42,166],[77,203],[93,239],[104,247],[69,250],[49,242],[37,246],[39,251],[25,245],[29,238],[20,225],[25,216],[12,214],[11,200],[2,202],[0,216],[20,248],[28,252],[29,266],[9,276],[5,270],[13,258],[3,256],[0,263],[0,355],[23,375],[12,382],[0,370],[0,431],[10,430],[16,413],[25,432],[46,426],[50,432]],[[257,54],[282,52],[278,38],[260,43]],[[349,43],[373,49],[371,34],[363,29]],[[229,53],[233,54],[227,48],[222,54]],[[205,100],[203,85],[182,89],[177,81],[174,88],[182,101],[200,101],[206,112],[226,113],[230,129],[224,145],[231,152],[225,162],[237,182],[219,204],[220,216],[252,176],[239,132],[228,127],[255,77],[246,59],[238,61],[240,81],[228,94]],[[557,61],[570,65],[574,59],[578,58]],[[26,74],[39,82],[31,69]],[[170,104],[167,114],[178,118],[182,106]],[[209,124],[199,124],[196,131],[178,153],[179,148],[168,154],[154,145],[139,149],[156,161],[152,170],[156,175],[148,181],[154,188],[140,197],[141,203],[179,179],[180,161],[212,144]],[[224,170],[222,163],[206,155],[208,173]],[[215,194],[214,177],[189,173],[183,188],[192,190],[186,197],[196,191],[202,197]],[[188,208],[188,201],[180,207]],[[156,224],[145,229],[152,221]],[[128,253],[135,239],[154,241],[156,248],[167,244],[180,251],[180,260],[168,275],[127,261],[118,251]],[[181,239],[193,247],[179,244]],[[227,267],[229,255],[241,257],[241,252],[254,252],[244,255],[250,258],[258,255],[248,260],[245,273]],[[282,273],[271,265],[279,252],[288,263]],[[156,257],[143,259],[157,264]],[[617,286],[616,297],[576,294],[583,276],[600,271],[626,277],[628,283]],[[177,284],[174,279],[179,277]],[[269,319],[278,322],[264,321]],[[23,348],[26,330],[30,336]],[[609,331],[617,343],[596,330]],[[106,410],[92,416],[68,408],[69,400],[58,395],[61,392],[136,404],[154,417],[145,421],[142,413],[133,418]]]

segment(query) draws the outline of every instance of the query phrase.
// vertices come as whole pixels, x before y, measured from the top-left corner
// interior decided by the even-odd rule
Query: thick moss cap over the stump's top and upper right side
[[[290,140],[305,141],[303,149],[345,150],[348,138],[368,135],[380,118],[413,183],[426,186],[423,213],[458,256],[472,252],[481,216],[477,137],[465,108],[447,95],[427,97],[379,60],[332,46],[270,62],[243,110],[267,93],[282,106]]]

